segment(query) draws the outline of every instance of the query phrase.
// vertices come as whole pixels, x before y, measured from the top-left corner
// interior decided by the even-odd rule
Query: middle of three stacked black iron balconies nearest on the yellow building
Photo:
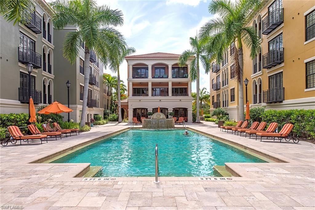
[[[284,48],[277,48],[270,50],[265,55],[262,56],[262,67],[269,69],[274,66],[283,63],[284,61]]]

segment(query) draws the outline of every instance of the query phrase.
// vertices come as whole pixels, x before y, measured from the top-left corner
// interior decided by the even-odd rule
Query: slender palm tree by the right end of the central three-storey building
[[[201,61],[203,68],[205,69],[205,72],[208,73],[210,71],[210,63],[209,58],[207,55],[204,54],[205,52],[205,45],[203,41],[200,41],[198,39],[198,36],[190,37],[190,46],[192,50],[185,50],[179,58],[178,65],[180,67],[185,66],[188,59],[192,58],[192,61],[190,63],[190,77],[192,79],[192,82],[196,81],[197,86],[197,104],[196,104],[196,111],[197,111],[197,119],[196,122],[200,122],[199,117],[199,60]]]

